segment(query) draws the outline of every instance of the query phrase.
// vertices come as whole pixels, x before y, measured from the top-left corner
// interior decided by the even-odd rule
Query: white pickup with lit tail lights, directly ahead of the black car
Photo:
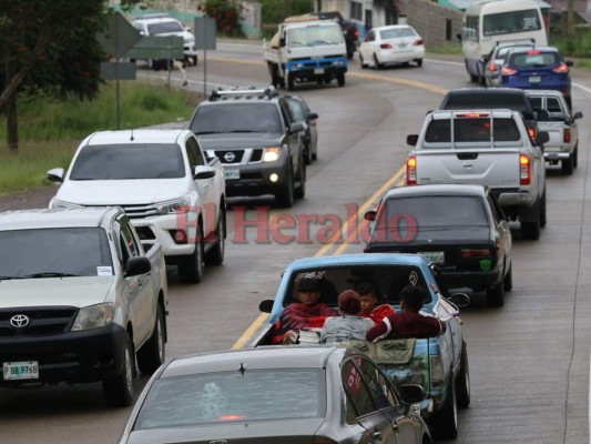
[[[408,185],[468,183],[490,186],[506,214],[521,223],[523,239],[546,226],[546,165],[521,114],[511,110],[454,110],[427,114],[420,134],[409,134]]]

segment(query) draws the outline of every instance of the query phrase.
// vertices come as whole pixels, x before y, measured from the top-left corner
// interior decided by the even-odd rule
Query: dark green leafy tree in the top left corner
[[[122,8],[149,0],[123,0]],[[110,10],[104,0],[0,0],[0,107],[7,119],[8,145],[17,151],[17,97],[99,91],[104,49],[96,34]]]

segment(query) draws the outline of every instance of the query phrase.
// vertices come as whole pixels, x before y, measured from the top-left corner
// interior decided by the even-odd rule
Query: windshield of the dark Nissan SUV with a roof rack
[[[275,103],[221,103],[201,107],[191,122],[195,134],[227,132],[283,133]]]

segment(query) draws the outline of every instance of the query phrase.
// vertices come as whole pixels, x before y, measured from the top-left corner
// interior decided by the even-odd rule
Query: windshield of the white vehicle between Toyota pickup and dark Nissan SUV
[[[176,144],[137,143],[86,145],[78,155],[70,180],[176,179],[185,175]]]

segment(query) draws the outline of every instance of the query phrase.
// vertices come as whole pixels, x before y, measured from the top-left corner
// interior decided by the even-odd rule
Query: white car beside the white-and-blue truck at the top
[[[390,63],[408,62],[422,65],[422,38],[408,24],[391,24],[371,29],[359,46],[361,68],[384,68]]]

